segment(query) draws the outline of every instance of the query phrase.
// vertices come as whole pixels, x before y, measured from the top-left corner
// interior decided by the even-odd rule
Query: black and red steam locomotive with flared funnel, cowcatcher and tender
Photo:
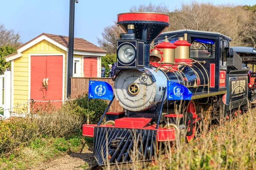
[[[228,119],[255,100],[230,37],[187,29],[162,33],[169,15],[159,13],[118,14],[117,25],[125,33],[117,40],[112,101],[124,112],[107,112],[111,101],[97,125],[83,125],[83,135],[94,137],[100,166],[134,161],[134,148],[137,160],[154,159],[161,142],[190,141],[197,125]],[[191,99],[167,100],[167,81],[183,85]],[[184,88],[173,93],[182,96]]]

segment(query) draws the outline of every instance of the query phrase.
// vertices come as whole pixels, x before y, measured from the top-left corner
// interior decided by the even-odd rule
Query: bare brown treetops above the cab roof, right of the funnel
[[[183,3],[180,9],[170,14],[167,30],[214,31],[231,37],[232,46],[255,46],[253,15],[252,11],[246,11],[242,6]]]

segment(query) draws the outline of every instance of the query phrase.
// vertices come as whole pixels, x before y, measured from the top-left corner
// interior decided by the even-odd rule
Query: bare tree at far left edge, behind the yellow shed
[[[10,45],[17,48],[21,45],[20,34],[15,33],[14,30],[8,30],[4,25],[0,24],[0,46],[2,45]]]

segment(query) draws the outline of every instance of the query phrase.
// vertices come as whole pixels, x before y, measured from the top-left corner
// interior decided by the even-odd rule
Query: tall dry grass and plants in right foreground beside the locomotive
[[[146,169],[171,170],[254,170],[256,169],[256,110],[249,110],[236,119],[220,122],[211,130],[204,130],[201,139],[187,144],[177,140],[175,149],[165,143],[165,154],[157,157]],[[130,169],[141,169],[138,147],[134,145],[130,153],[133,163]],[[158,155],[158,153],[157,153]],[[108,156],[107,156],[108,159]],[[108,160],[105,160],[107,163]],[[116,165],[119,169],[121,166]],[[106,169],[111,166],[107,163]]]

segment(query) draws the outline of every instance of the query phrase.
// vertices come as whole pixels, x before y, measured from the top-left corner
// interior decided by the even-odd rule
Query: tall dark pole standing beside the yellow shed
[[[68,36],[69,38],[68,38],[68,56],[67,56],[67,97],[69,97],[71,94],[71,77],[73,76],[75,3],[78,3],[78,0],[70,0],[69,36]]]

